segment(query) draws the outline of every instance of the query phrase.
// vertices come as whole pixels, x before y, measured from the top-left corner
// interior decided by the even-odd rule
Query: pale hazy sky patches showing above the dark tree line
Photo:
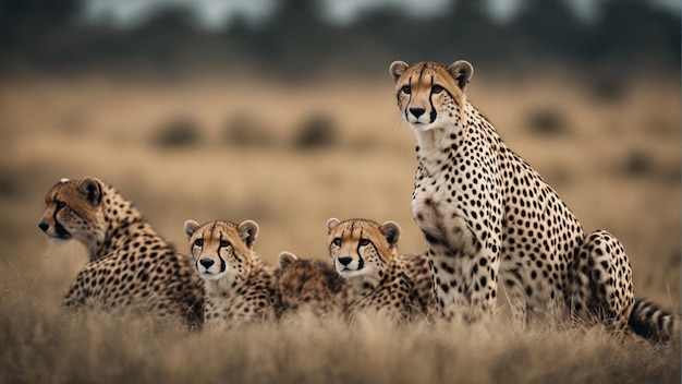
[[[449,0],[319,0],[325,19],[346,24],[357,14],[385,5],[393,5],[415,17],[429,17],[450,7]],[[456,1],[456,0],[455,0]],[[500,21],[514,16],[524,0],[485,0],[491,15]],[[596,0],[569,0],[568,3],[582,17],[589,20],[596,14],[593,4]],[[612,0],[618,1],[618,0]],[[672,12],[680,12],[680,0],[651,0]],[[235,16],[252,23],[267,20],[277,0],[86,0],[85,19],[90,22],[106,22],[121,27],[143,23],[157,10],[173,4],[191,10],[198,23],[207,28],[220,28]]]

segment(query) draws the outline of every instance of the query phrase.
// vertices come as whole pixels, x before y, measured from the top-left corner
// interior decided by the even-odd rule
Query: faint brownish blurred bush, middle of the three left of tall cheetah
[[[268,128],[252,115],[241,113],[228,119],[222,130],[222,142],[241,147],[265,147],[273,143]]]

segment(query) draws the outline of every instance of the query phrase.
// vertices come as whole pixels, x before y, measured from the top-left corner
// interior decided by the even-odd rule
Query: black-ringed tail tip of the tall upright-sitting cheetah
[[[655,343],[666,343],[673,335],[675,315],[650,301],[636,299],[628,325],[635,334],[644,338]]]

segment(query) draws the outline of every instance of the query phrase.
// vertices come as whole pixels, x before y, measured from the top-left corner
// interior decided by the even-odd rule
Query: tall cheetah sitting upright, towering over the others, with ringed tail
[[[402,119],[416,135],[412,214],[446,319],[491,313],[501,283],[517,324],[537,315],[577,316],[616,331],[630,321],[640,334],[671,335],[673,315],[635,301],[621,243],[605,230],[586,235],[552,188],[468,103],[467,61],[394,61],[389,72]]]

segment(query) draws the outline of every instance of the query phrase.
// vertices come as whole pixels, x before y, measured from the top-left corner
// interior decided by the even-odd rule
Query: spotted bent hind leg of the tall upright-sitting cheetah
[[[567,295],[571,313],[624,332],[635,300],[623,245],[611,233],[597,230],[585,238],[574,257]]]

